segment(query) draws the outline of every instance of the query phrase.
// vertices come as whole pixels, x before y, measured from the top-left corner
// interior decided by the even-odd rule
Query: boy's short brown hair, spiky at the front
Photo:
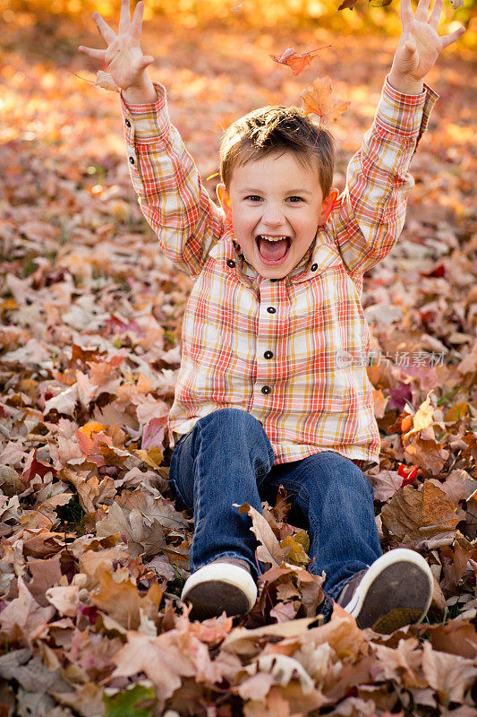
[[[293,152],[302,164],[318,168],[321,191],[327,197],[335,164],[333,137],[296,107],[254,109],[230,125],[220,144],[220,178],[228,189],[234,167],[285,151]]]

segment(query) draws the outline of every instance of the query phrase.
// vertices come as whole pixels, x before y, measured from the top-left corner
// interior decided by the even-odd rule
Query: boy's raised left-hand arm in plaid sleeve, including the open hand
[[[141,211],[166,256],[196,276],[223,232],[224,213],[202,186],[191,155],[169,122],[164,87],[149,79],[146,68],[154,58],[141,51],[143,12],[140,2],[131,20],[129,0],[122,0],[117,35],[93,13],[107,48],[80,50],[106,65],[121,88],[129,168]]]

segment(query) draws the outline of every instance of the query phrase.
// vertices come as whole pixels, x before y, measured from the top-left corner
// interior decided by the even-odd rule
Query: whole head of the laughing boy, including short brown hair
[[[297,266],[328,219],[334,146],[293,108],[263,108],[232,125],[217,195],[246,261],[264,279]]]

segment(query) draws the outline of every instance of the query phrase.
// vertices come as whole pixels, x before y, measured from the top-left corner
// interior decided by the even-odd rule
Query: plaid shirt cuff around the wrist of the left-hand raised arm
[[[133,145],[150,144],[163,139],[170,131],[167,114],[166,88],[160,82],[153,82],[157,98],[155,102],[133,105],[120,92],[121,110],[124,117],[126,143]]]

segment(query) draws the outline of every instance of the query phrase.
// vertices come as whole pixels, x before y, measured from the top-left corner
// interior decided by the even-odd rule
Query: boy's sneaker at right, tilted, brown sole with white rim
[[[336,602],[362,629],[388,634],[425,618],[433,585],[424,558],[414,550],[397,548],[354,574]]]

